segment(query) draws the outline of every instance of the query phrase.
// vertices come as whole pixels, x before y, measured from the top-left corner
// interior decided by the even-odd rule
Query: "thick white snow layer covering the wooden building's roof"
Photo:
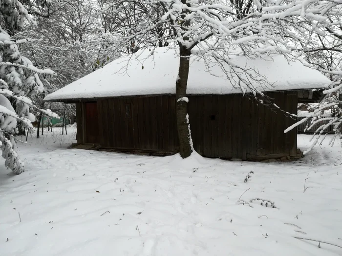
[[[257,72],[267,79],[268,83],[263,82],[262,86],[252,81],[252,86],[258,91],[322,88],[330,82],[318,71],[303,66],[299,61],[289,64],[280,55],[256,59],[245,56],[231,58],[235,65],[250,69],[254,76]],[[204,61],[193,56],[190,62],[188,94],[241,92],[236,83],[238,79],[228,65],[224,65],[228,71],[225,73],[214,60]],[[140,51],[112,61],[104,68],[46,96],[44,100],[174,94],[178,67],[179,57],[174,49],[157,48],[153,54],[148,50]],[[243,73],[240,75],[246,78]],[[243,90],[250,91],[246,86]]]

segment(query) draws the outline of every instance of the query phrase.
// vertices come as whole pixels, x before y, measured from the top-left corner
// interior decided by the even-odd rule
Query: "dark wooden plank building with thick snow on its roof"
[[[320,91],[312,89],[324,87],[329,80],[299,62],[288,64],[281,56],[272,60],[235,60],[251,68],[258,66],[258,74],[267,77],[272,86],[254,87],[265,91],[271,103],[282,111],[239,93],[240,89],[231,84],[235,77],[227,79],[217,65],[208,72],[207,63],[193,60],[188,80],[188,113],[194,149],[210,158],[296,158],[296,129],[284,133],[296,121],[290,114],[297,114],[300,102],[319,101]],[[122,152],[175,154],[177,63],[174,51],[164,48],[150,58],[144,52],[124,57],[44,100],[76,103],[80,144]]]

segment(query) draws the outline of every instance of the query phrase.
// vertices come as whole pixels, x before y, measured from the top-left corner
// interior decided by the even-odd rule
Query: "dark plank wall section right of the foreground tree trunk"
[[[267,94],[285,112],[297,114],[296,92]],[[204,157],[248,159],[265,154],[297,153],[297,133],[284,130],[295,119],[277,108],[242,95],[189,96],[195,150]]]

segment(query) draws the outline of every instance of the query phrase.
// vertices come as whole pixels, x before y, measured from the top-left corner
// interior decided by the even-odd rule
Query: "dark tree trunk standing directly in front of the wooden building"
[[[177,130],[179,139],[179,154],[182,158],[187,158],[192,153],[191,135],[189,124],[187,120],[187,101],[183,100],[186,97],[190,51],[185,46],[179,48],[179,70],[178,78],[176,80],[176,117]]]

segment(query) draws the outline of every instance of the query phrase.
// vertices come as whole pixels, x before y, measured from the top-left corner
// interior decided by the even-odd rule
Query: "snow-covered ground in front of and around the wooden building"
[[[17,144],[24,173],[0,163],[1,256],[342,255],[294,238],[342,246],[340,141],[253,163],[67,149],[73,128],[44,133]]]

